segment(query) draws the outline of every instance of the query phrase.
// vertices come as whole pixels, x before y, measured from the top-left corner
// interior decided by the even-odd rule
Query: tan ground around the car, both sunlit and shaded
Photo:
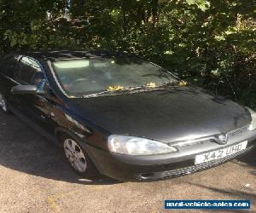
[[[251,199],[251,211],[256,212],[255,150],[210,170],[165,181],[89,181],[73,172],[58,147],[1,112],[0,174],[1,213],[166,212],[164,199]]]

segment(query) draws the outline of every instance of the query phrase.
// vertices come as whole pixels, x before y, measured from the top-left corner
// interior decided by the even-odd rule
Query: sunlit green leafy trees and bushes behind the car
[[[252,0],[0,0],[0,51],[136,53],[256,108]]]

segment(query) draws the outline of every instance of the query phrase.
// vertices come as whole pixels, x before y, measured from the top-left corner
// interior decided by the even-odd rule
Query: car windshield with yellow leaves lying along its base
[[[131,58],[61,60],[54,61],[53,68],[62,89],[73,96],[154,88],[177,81],[159,66]]]

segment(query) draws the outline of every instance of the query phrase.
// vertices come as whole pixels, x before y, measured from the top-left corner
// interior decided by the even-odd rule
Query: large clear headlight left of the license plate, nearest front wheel
[[[112,153],[127,155],[155,155],[178,152],[177,148],[165,143],[126,135],[110,135],[108,137],[108,149]]]

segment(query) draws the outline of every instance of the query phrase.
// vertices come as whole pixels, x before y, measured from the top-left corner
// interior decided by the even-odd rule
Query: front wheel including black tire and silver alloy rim
[[[67,162],[76,173],[88,179],[93,179],[99,175],[96,166],[92,163],[79,141],[69,135],[62,135],[61,144]]]

